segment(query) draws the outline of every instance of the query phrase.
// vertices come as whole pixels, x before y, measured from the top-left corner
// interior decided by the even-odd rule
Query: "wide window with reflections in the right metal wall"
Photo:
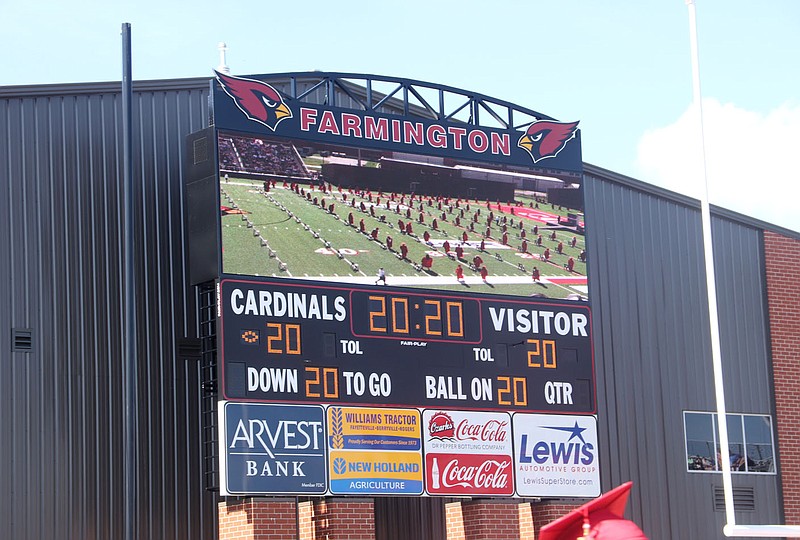
[[[722,470],[717,415],[709,412],[683,413],[686,435],[686,464],[691,472]],[[735,473],[775,473],[772,419],[759,414],[729,414],[728,451]]]

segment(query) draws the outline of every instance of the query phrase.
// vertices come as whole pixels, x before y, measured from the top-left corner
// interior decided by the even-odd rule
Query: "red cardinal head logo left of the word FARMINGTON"
[[[285,118],[292,117],[292,111],[283,102],[280,94],[265,82],[231,77],[215,71],[217,80],[231,96],[236,106],[249,118],[264,124],[272,131]]]

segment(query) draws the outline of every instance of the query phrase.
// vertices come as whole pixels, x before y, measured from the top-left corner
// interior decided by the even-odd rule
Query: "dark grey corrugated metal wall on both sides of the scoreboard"
[[[197,335],[181,159],[206,124],[207,81],[141,83],[133,105],[139,537],[214,538],[203,372],[176,352]],[[120,538],[119,85],[0,89],[0,126],[2,536]],[[686,472],[683,434],[684,410],[714,409],[699,209],[591,166],[585,185],[603,489],[634,480],[631,517],[652,538],[722,538],[721,477]],[[719,216],[714,233],[728,408],[770,414],[761,233]],[[31,351],[12,352],[12,329],[32,330]],[[757,497],[741,523],[780,521],[776,477],[734,484]]]

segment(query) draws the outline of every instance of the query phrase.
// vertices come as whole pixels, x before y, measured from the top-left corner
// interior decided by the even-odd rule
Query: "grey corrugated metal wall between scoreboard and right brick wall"
[[[722,477],[686,471],[683,429],[683,411],[716,410],[699,205],[614,176],[585,175],[603,489],[634,481],[651,538],[721,539]],[[712,230],[727,408],[772,414],[762,233],[719,216]],[[734,487],[756,496],[737,523],[781,522],[776,476]]]

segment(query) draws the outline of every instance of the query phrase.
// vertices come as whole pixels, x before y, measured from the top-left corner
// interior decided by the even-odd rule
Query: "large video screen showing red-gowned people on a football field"
[[[225,274],[587,298],[579,186],[275,137],[218,147]]]

